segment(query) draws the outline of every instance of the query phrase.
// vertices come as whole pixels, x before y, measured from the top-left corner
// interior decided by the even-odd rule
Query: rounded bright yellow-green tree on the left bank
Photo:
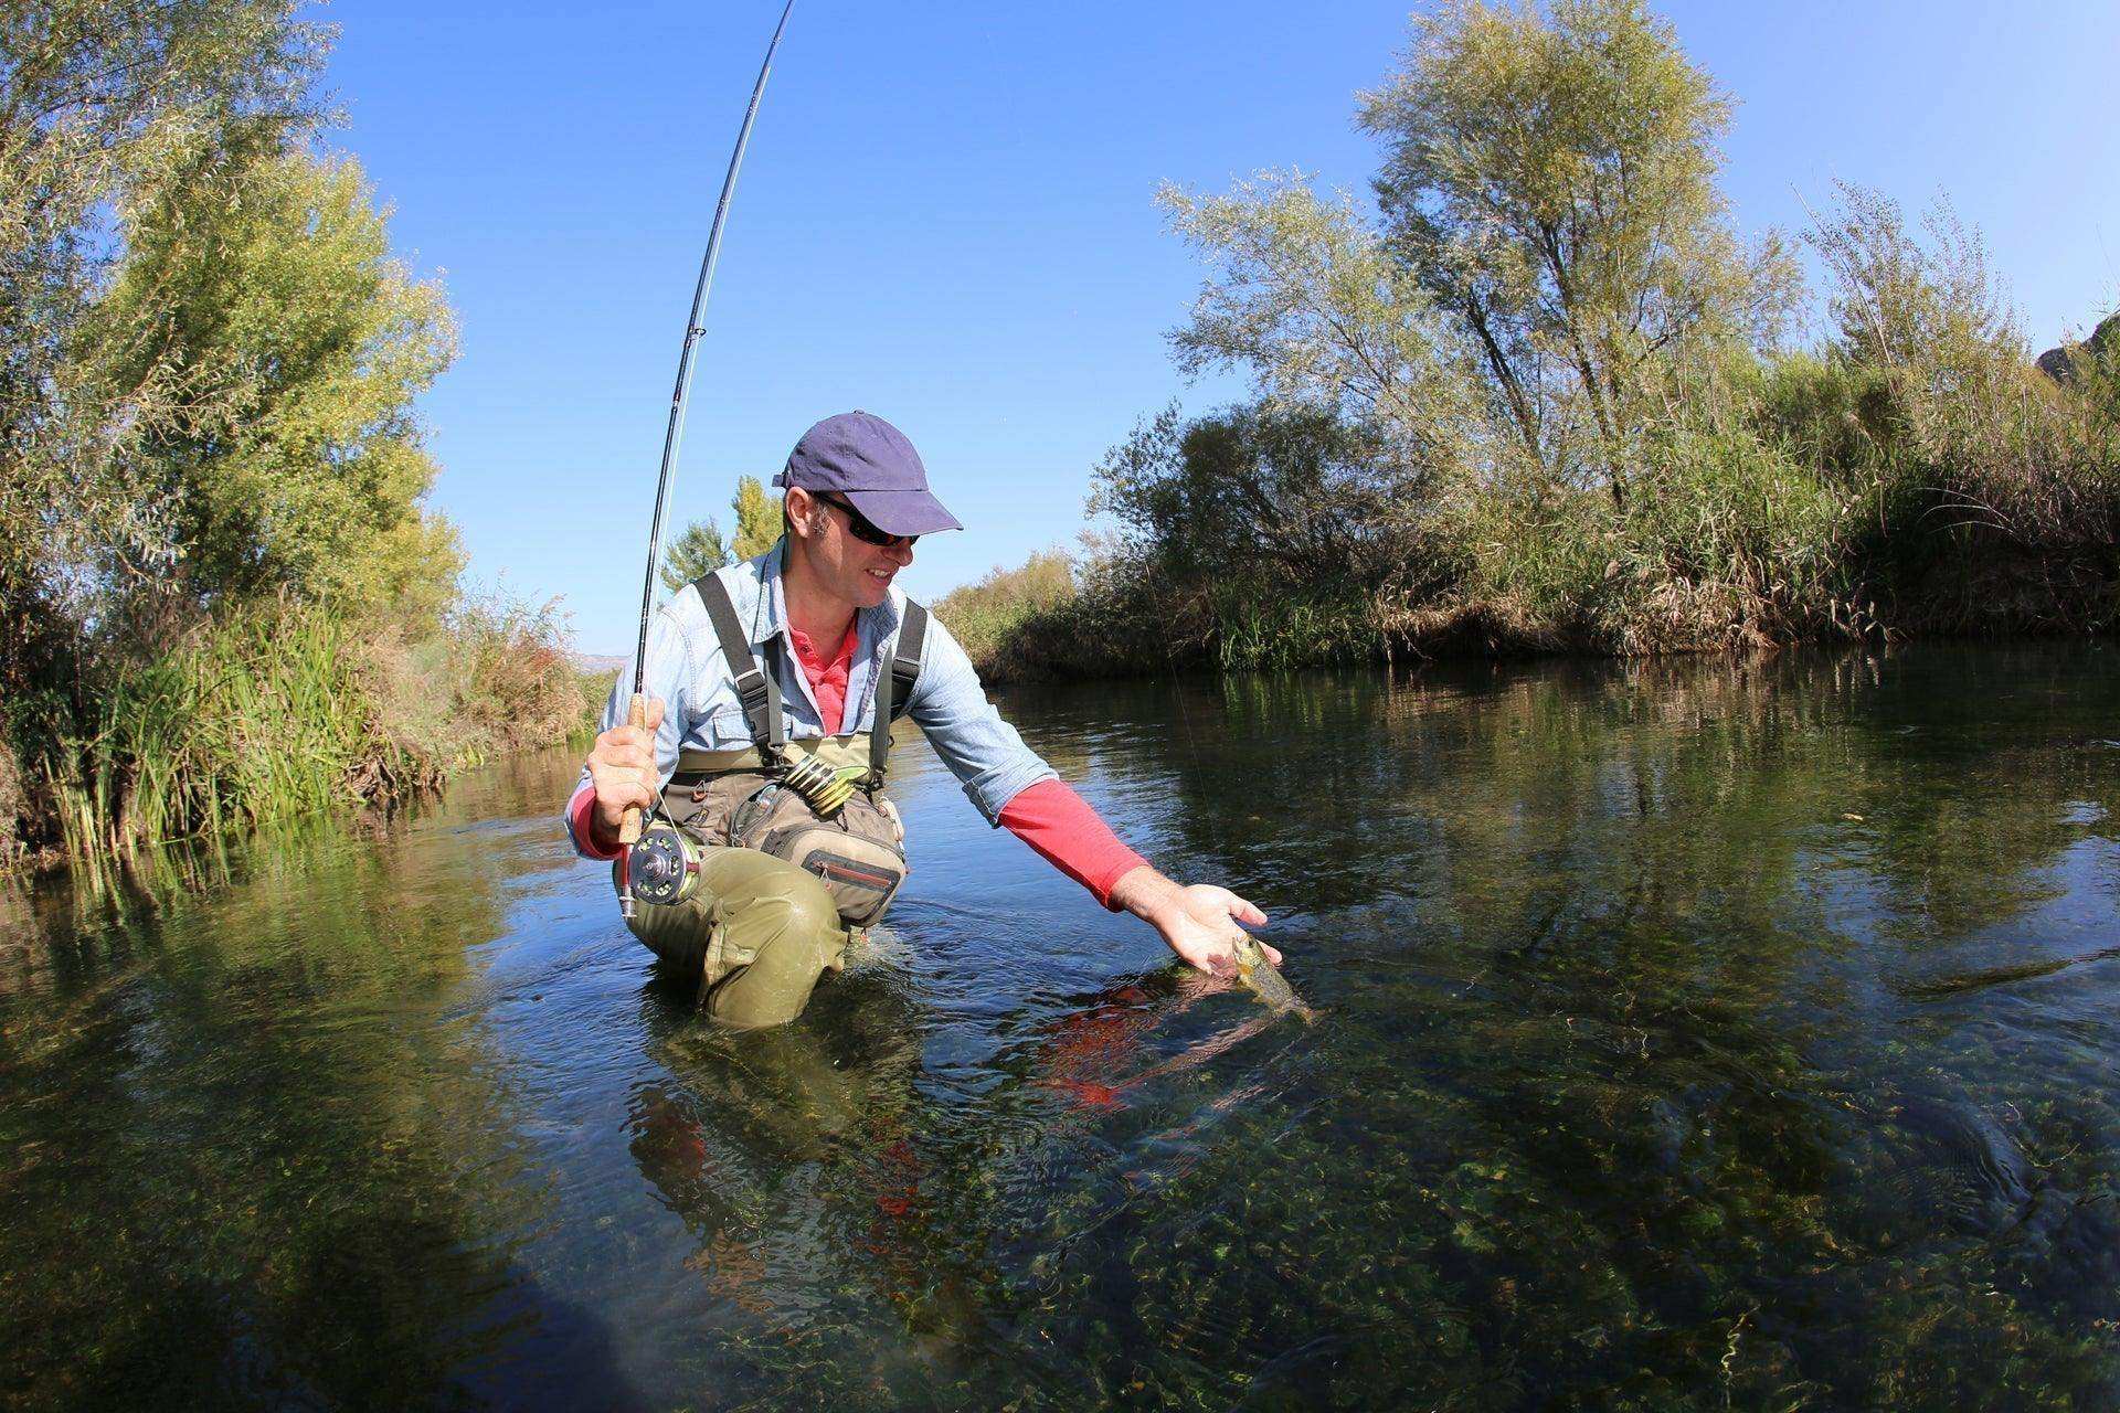
[[[70,383],[157,506],[178,593],[432,619],[462,555],[422,506],[437,468],[413,405],[454,352],[360,167],[288,153],[208,161],[127,212]]]

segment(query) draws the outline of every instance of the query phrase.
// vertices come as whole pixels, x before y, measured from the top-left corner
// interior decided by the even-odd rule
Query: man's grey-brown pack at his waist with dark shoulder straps
[[[905,602],[897,646],[876,676],[867,741],[852,733],[789,739],[778,640],[765,644],[761,665],[721,576],[706,574],[693,589],[736,678],[750,746],[681,752],[664,811],[700,843],[759,849],[814,873],[844,924],[873,924],[905,881],[905,826],[882,790],[890,722],[905,714],[920,680],[926,608]]]

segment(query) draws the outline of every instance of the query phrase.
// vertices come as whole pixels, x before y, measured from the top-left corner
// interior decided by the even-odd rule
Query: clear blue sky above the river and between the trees
[[[1660,6],[1738,100],[1747,231],[1804,225],[1834,178],[1948,191],[2037,347],[2120,299],[2120,6]],[[776,0],[341,0],[333,144],[439,275],[462,356],[426,398],[475,583],[562,595],[589,652],[632,650],[678,337]],[[1090,468],[1185,388],[1164,330],[1198,267],[1162,180],[1302,165],[1365,191],[1353,95],[1406,44],[1401,2],[994,6],[797,0],[723,242],[672,523],[865,407],[920,447],[965,534],[918,597],[1073,547]]]

